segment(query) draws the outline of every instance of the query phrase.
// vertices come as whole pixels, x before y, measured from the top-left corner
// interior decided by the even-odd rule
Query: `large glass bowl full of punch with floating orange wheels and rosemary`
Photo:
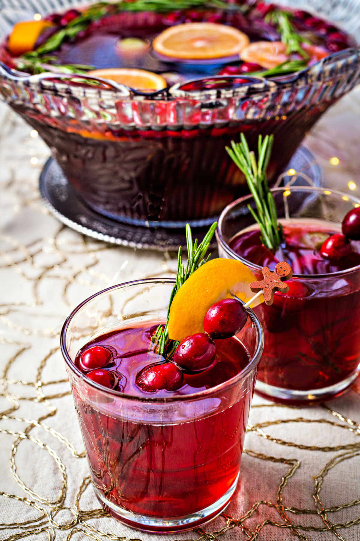
[[[358,82],[350,36],[274,4],[62,4],[53,0],[56,13],[40,22],[24,11],[20,32],[9,26],[20,8],[3,0],[0,92],[81,201],[130,225],[212,223],[248,193],[225,151],[231,140],[246,131],[255,149],[260,131],[274,134],[271,184]]]

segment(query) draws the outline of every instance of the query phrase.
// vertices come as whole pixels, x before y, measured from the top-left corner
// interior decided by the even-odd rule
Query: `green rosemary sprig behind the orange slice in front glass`
[[[191,276],[196,271],[196,269],[204,265],[209,260],[210,255],[208,255],[207,258],[205,258],[205,255],[207,250],[209,249],[210,242],[214,236],[217,225],[217,222],[213,223],[213,225],[210,227],[205,237],[203,238],[203,241],[199,245],[198,239],[195,239],[195,241],[193,241],[189,224],[187,223],[186,225],[186,246],[188,254],[186,267],[184,267],[184,263],[182,262],[182,248],[180,246],[178,252],[178,269],[176,270],[175,285],[170,295],[169,306],[166,316],[166,324],[164,328],[162,325],[159,325],[159,327],[157,328],[157,332],[153,337],[153,341],[156,344],[155,348],[157,349],[158,353],[160,353],[161,355],[165,355],[168,359],[172,358],[176,347],[178,347],[179,345],[179,342],[176,342],[175,340],[169,340],[168,324],[171,304],[173,302],[174,296],[176,295],[176,292],[179,291],[182,284],[189,278],[189,276]]]

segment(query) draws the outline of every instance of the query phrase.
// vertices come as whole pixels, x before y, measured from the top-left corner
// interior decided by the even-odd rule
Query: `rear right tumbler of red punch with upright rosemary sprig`
[[[266,159],[258,171],[244,137],[241,146],[229,149],[237,165],[246,167],[255,199],[244,197],[224,210],[219,253],[240,260],[259,279],[263,266],[291,265],[289,291],[275,293],[271,306],[254,308],[265,334],[257,391],[307,404],[345,391],[359,370],[360,200],[314,187],[269,192],[271,140],[260,147]]]

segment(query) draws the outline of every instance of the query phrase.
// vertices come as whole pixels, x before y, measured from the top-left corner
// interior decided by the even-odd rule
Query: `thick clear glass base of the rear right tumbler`
[[[352,382],[357,378],[359,371],[360,366],[358,366],[357,370],[352,372],[347,379],[343,379],[335,385],[330,385],[329,387],[323,387],[321,389],[311,389],[309,391],[295,391],[284,387],[275,387],[274,385],[268,385],[258,379],[256,381],[255,392],[268,400],[284,404],[316,404],[317,402],[323,402],[324,400],[338,397],[347,391]]]

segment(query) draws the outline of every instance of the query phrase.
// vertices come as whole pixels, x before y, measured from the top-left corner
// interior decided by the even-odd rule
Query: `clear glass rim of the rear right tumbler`
[[[353,203],[357,203],[360,205],[360,199],[352,194],[345,194],[344,192],[340,192],[339,190],[334,190],[332,188],[327,187],[317,187],[317,186],[280,186],[277,188],[271,188],[271,193],[281,193],[286,192],[287,190],[290,190],[291,192],[316,192],[318,194],[322,193],[323,195],[336,195],[341,198],[347,197],[348,201],[352,201]],[[236,254],[234,250],[232,250],[228,243],[225,241],[223,235],[222,235],[222,226],[223,221],[226,219],[226,216],[229,212],[233,210],[237,205],[245,204],[246,201],[250,201],[254,199],[252,194],[244,195],[242,197],[239,197],[239,199],[236,199],[232,203],[229,203],[225,209],[223,209],[222,213],[219,216],[218,220],[218,227],[216,228],[216,240],[218,241],[218,245],[221,246],[221,248],[232,258],[237,259],[244,263],[247,267],[250,267],[254,269],[255,271],[261,271],[262,266],[256,265],[256,263],[253,263],[252,261],[249,261],[248,259],[242,258],[241,255]],[[345,200],[346,201],[346,200]],[[255,223],[255,221],[254,221]],[[240,232],[239,232],[240,233]],[[350,267],[349,269],[345,269],[344,271],[336,271],[332,273],[324,273],[324,274],[293,274],[293,278],[299,278],[303,280],[316,280],[316,279],[323,279],[323,278],[336,278],[337,276],[344,276],[348,273],[354,272],[354,271],[360,271],[360,265],[357,265],[355,267]]]

